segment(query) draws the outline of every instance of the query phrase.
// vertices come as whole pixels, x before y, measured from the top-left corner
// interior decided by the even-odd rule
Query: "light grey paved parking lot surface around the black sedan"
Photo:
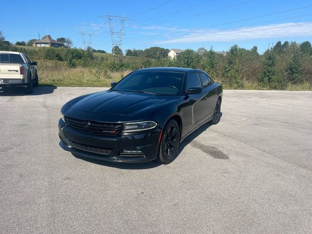
[[[312,92],[224,90],[159,165],[59,147],[61,106],[103,89],[0,89],[0,233],[312,233]]]

